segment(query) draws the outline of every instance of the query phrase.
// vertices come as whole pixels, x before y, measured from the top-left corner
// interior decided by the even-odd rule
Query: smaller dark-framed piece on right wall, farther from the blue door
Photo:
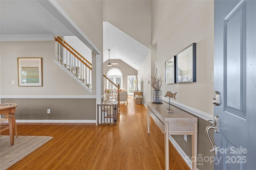
[[[176,55],[165,62],[165,83],[176,83]]]

